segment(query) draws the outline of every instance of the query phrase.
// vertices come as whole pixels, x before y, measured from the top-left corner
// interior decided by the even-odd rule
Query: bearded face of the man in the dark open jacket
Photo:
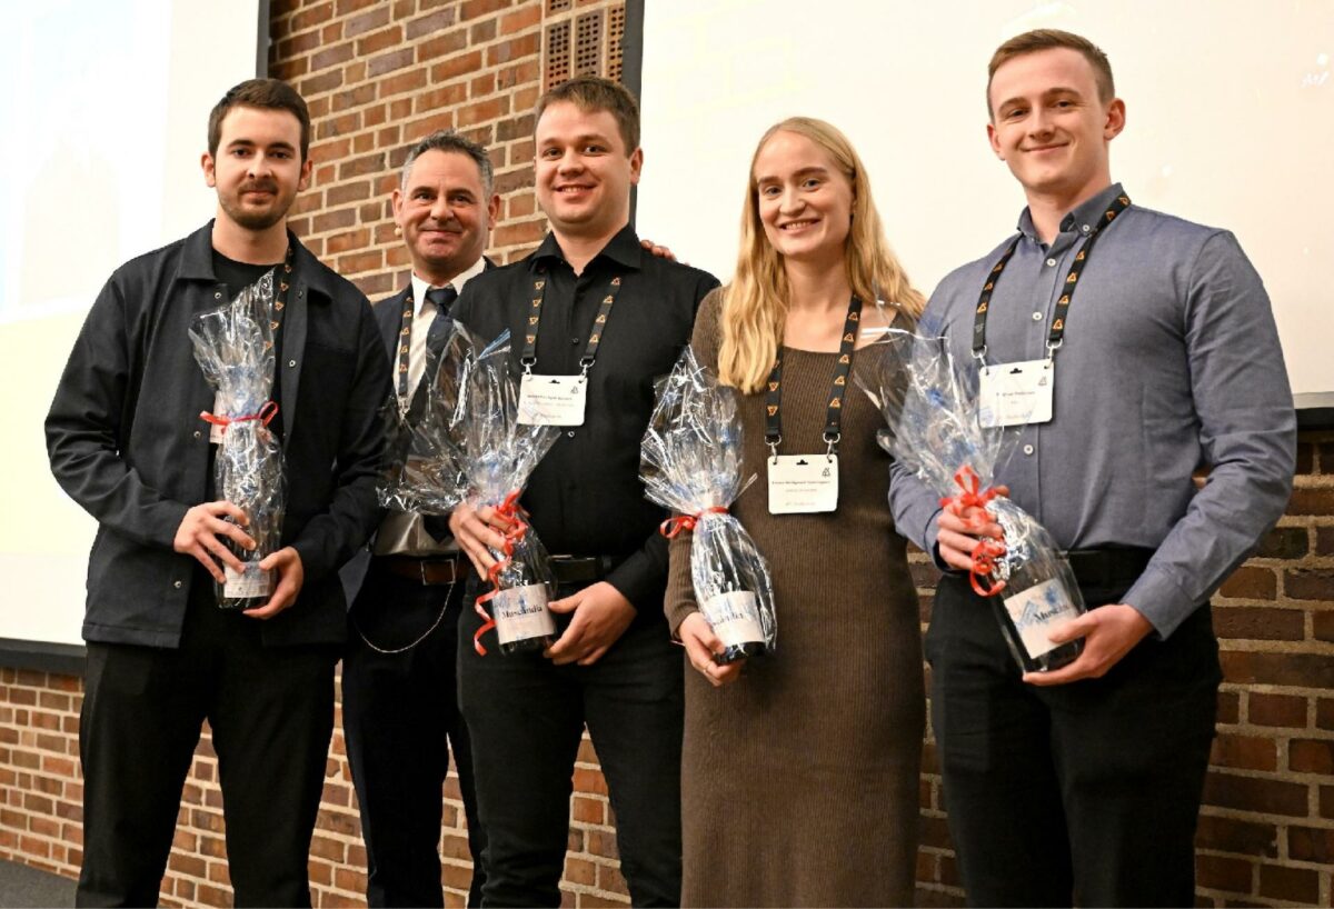
[[[300,143],[301,124],[288,111],[247,105],[228,111],[216,156],[203,159],[204,180],[217,191],[219,216],[251,232],[287,217],[311,176]]]

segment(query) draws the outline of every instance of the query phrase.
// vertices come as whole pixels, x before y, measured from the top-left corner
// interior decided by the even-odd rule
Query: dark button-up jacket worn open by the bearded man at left
[[[305,582],[264,622],[265,644],[340,642],[336,569],[370,536],[391,393],[375,317],[352,284],[297,240],[277,363],[287,469],[283,545]],[[88,641],[176,646],[189,588],[204,574],[172,550],[185,510],[208,488],[213,391],[187,329],[219,305],[212,223],[120,267],[93,303],[47,415],[56,480],[97,518],[88,560]]]

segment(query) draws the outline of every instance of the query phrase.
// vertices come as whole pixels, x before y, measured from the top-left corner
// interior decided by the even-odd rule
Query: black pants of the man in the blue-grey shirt
[[[1117,602],[1122,589],[1085,589]],[[926,638],[959,873],[978,906],[1191,906],[1218,705],[1209,606],[1102,678],[1025,685],[991,605],[942,578]]]

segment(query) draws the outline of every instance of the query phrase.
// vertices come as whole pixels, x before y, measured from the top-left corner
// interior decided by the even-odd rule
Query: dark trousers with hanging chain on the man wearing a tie
[[[451,745],[472,853],[468,905],[480,905],[486,836],[455,672],[462,602],[462,580],[423,585],[372,558],[350,613],[343,729],[362,806],[366,900],[372,906],[444,905],[440,800]]]

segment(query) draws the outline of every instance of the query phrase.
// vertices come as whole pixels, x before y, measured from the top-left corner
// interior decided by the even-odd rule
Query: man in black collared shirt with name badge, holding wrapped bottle
[[[576,376],[587,365],[587,403],[582,425],[562,428],[523,496],[538,536],[563,553],[551,602],[558,640],[546,653],[488,648],[482,657],[471,640],[482,618],[466,609],[460,624],[460,701],[488,841],[483,905],[559,905],[571,773],[587,722],[631,900],[675,906],[683,669],[662,609],[664,513],[644,500],[639,441],[654,379],[671,369],[718,281],[639,247],[630,188],[643,155],[624,88],[579,77],[543,96],[536,115],[536,192],[551,233],[527,259],[470,283],[455,317],[484,339],[510,329],[515,363],[535,335],[536,375]],[[539,280],[540,324],[530,327]],[[611,312],[595,325],[608,295]],[[484,573],[503,520],[462,506],[450,524]],[[470,600],[482,589],[471,578]]]

